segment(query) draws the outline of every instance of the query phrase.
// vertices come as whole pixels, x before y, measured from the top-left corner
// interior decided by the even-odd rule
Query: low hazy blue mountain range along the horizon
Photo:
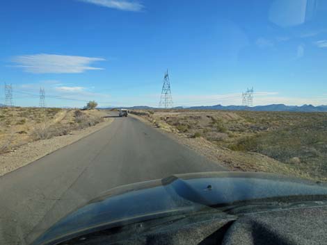
[[[119,108],[119,107],[117,107]],[[112,109],[112,108],[103,108]],[[129,110],[153,110],[153,108],[146,105],[138,105],[127,108]],[[284,105],[284,104],[272,104],[272,105],[257,105],[253,107],[244,105],[200,105],[191,107],[177,106],[173,109],[189,109],[189,110],[251,110],[262,112],[327,112],[327,105]]]

